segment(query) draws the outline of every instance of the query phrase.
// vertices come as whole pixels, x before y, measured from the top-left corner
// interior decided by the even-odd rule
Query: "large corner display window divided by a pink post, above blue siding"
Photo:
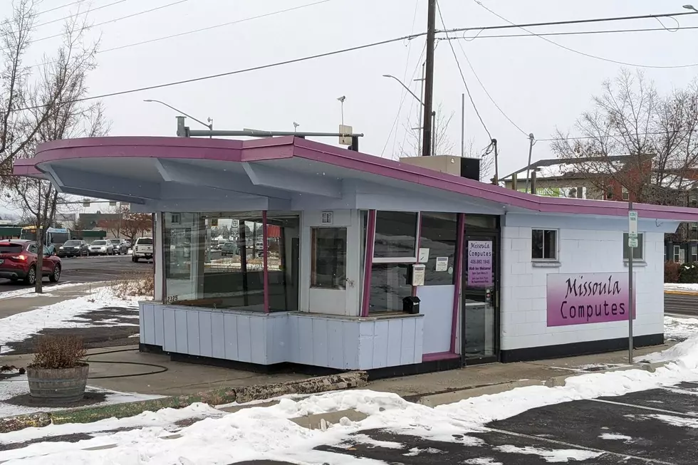
[[[298,310],[298,215],[261,211],[164,215],[165,301],[264,311]]]

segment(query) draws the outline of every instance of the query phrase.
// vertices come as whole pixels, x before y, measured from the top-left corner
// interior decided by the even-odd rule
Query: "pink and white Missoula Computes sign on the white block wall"
[[[627,291],[627,273],[548,274],[548,326],[627,320]]]

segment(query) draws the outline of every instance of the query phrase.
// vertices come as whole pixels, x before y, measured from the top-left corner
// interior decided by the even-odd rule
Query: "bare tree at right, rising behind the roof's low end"
[[[600,192],[627,189],[628,198],[682,204],[698,179],[698,83],[660,95],[641,73],[622,70],[603,83],[593,108],[571,138],[559,131],[551,148],[566,173],[583,174]]]

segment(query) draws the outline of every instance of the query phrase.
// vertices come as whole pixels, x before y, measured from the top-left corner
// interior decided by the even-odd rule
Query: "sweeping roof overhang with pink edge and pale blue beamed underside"
[[[469,211],[459,209],[462,204],[499,214],[627,216],[622,202],[539,197],[291,136],[57,140],[39,145],[33,159],[17,160],[14,174],[46,177],[69,194],[135,204],[231,196],[251,205],[266,202],[267,209],[285,209],[301,199],[326,199],[328,208],[370,208],[375,196],[393,196],[397,204],[412,196],[448,207],[440,211]],[[634,208],[646,219],[698,221],[697,209]]]

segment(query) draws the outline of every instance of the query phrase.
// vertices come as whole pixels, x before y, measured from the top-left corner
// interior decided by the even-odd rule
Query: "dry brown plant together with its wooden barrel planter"
[[[41,336],[27,367],[29,395],[45,404],[78,402],[85,395],[90,367],[85,346],[76,336]]]

